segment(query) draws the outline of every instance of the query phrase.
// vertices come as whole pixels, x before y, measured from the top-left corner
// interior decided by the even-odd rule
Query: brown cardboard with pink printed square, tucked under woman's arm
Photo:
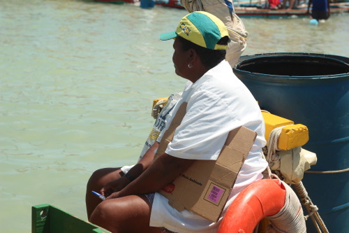
[[[181,106],[165,132],[156,157],[161,155],[174,131],[185,115]],[[169,200],[170,206],[178,211],[188,209],[216,222],[228,200],[237,174],[253,146],[257,134],[246,127],[239,127],[228,134],[218,160],[197,160],[181,176],[160,191]],[[163,144],[163,145],[161,145]]]

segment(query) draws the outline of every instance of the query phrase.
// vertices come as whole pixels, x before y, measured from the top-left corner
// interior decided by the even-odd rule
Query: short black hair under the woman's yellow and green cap
[[[177,36],[176,39],[179,39],[182,44],[182,48],[184,51],[193,49],[198,53],[198,56],[201,59],[202,64],[207,68],[214,68],[217,64],[219,64],[223,59],[225,59],[225,55],[227,54],[227,50],[211,50],[209,48],[201,47],[191,41],[182,38],[181,36]],[[229,37],[224,36],[217,42],[218,45],[228,45]]]

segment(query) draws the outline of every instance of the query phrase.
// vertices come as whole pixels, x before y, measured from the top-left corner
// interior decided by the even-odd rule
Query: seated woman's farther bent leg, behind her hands
[[[99,199],[96,195],[94,195],[91,191],[99,192],[104,185],[109,183],[110,181],[114,181],[124,173],[119,168],[104,168],[98,169],[92,174],[87,182],[86,188],[86,209],[87,209],[87,218],[89,219],[91,213],[94,211],[96,206],[101,203],[101,199]]]

